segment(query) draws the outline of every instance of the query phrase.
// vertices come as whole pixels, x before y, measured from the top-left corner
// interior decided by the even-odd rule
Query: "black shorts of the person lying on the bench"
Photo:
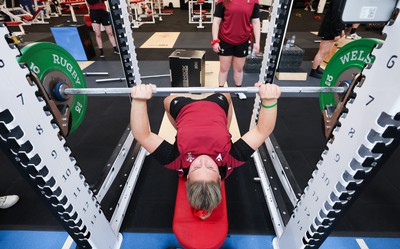
[[[178,117],[179,112],[184,106],[200,100],[208,100],[218,104],[222,109],[224,109],[225,114],[228,115],[229,103],[225,95],[221,93],[215,93],[210,96],[207,96],[204,99],[198,99],[198,100],[187,97],[176,97],[171,101],[169,105],[169,113],[174,119],[176,119]]]

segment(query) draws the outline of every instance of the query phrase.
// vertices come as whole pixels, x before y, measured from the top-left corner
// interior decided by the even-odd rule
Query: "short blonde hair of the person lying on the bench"
[[[186,189],[190,205],[194,209],[211,212],[222,199],[221,180],[190,181],[187,180]]]

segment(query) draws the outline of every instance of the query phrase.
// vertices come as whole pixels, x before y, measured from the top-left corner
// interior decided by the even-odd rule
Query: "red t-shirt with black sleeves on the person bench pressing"
[[[226,175],[222,176],[226,178],[254,152],[242,139],[232,144],[226,113],[212,101],[200,100],[184,106],[176,118],[176,128],[175,144],[164,141],[153,156],[181,176],[197,156],[208,155],[218,167],[226,167]]]

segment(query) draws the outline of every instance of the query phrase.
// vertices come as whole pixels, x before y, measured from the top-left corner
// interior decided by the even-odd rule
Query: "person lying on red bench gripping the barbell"
[[[275,127],[280,88],[263,83],[255,86],[262,99],[258,123],[235,143],[228,130],[232,117],[230,94],[212,94],[201,100],[166,97],[164,107],[177,130],[174,144],[149,129],[147,100],[152,97],[153,86],[132,88],[133,136],[161,165],[187,177],[189,203],[202,219],[208,218],[221,202],[221,179],[243,165]]]

